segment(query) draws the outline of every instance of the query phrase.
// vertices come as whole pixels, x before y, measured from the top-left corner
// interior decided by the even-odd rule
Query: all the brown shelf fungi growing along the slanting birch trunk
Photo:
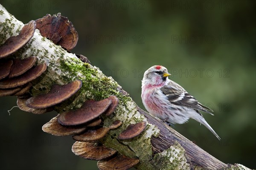
[[[10,37],[0,45],[0,96],[17,96],[18,107],[27,112],[42,114],[54,110],[56,105],[79,93],[82,81],[75,80],[65,85],[52,85],[46,94],[32,96],[33,85],[44,76],[47,64],[38,61],[36,56],[21,59],[15,54],[33,37],[35,29],[56,45],[67,51],[73,49],[78,41],[78,34],[72,23],[61,14],[49,15],[30,21],[24,25],[20,34]],[[76,55],[82,62],[90,63],[83,55]],[[76,155],[90,160],[98,160],[100,170],[127,170],[139,163],[139,159],[130,158],[106,147],[100,141],[110,130],[122,125],[120,120],[113,120],[112,125],[103,127],[104,119],[112,119],[111,114],[119,104],[116,96],[95,101],[87,100],[77,110],[58,114],[46,123],[44,132],[55,136],[73,135],[76,142],[72,151]],[[146,122],[129,125],[117,140],[130,140],[145,130]]]

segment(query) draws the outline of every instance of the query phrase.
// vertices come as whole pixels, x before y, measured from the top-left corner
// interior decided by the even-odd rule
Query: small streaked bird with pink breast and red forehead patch
[[[202,105],[183,87],[170,80],[170,75],[162,65],[154,65],[145,71],[141,99],[146,110],[170,124],[183,124],[190,118],[195,119],[221,140],[200,113],[203,111],[213,115],[212,109]]]

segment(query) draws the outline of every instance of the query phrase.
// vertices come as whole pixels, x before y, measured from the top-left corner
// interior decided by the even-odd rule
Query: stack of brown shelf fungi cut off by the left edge
[[[32,87],[31,82],[40,77],[47,69],[45,63],[37,63],[37,57],[25,59],[13,54],[32,38],[35,21],[30,21],[17,36],[9,37],[0,46],[0,96],[14,95],[22,98]]]

